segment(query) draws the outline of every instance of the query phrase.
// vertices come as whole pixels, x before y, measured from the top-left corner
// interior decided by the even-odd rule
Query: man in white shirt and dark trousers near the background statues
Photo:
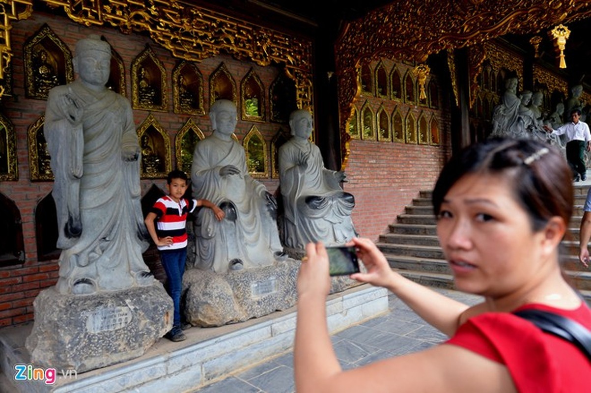
[[[591,151],[591,132],[589,132],[587,123],[579,121],[580,116],[581,111],[573,109],[570,112],[571,122],[558,127],[558,129],[544,125],[544,129],[551,132],[552,135],[566,136],[566,160],[569,161],[573,170],[574,181],[579,181],[579,174],[581,180],[587,180],[587,168],[584,161],[585,149]]]

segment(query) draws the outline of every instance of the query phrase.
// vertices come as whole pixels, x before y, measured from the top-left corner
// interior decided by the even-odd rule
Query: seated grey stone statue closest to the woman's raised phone
[[[293,137],[279,149],[285,211],[282,236],[290,248],[317,241],[342,244],[356,235],[351,220],[355,199],[340,187],[345,174],[325,168],[319,148],[309,141],[312,124],[309,111],[292,112]]]

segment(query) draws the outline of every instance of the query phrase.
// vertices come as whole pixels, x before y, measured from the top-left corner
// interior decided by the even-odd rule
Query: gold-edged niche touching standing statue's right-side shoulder
[[[170,138],[152,113],[137,129],[142,178],[165,178],[172,170]]]

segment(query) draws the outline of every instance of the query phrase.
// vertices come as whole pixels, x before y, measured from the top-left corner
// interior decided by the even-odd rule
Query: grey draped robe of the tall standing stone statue
[[[79,126],[64,102],[84,109]],[[57,86],[47,100],[44,134],[51,155],[59,226],[60,293],[80,279],[96,290],[151,284],[142,252],[148,247],[140,203],[139,151],[128,100],[111,90],[94,92],[81,82]]]

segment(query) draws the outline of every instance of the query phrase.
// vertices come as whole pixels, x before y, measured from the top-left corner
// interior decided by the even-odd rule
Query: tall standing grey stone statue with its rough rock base
[[[111,47],[76,43],[78,79],[50,90],[44,132],[55,176],[60,277],[33,303],[30,361],[84,372],[137,358],[172,327],[173,301],[142,259],[131,106],[105,87]]]

